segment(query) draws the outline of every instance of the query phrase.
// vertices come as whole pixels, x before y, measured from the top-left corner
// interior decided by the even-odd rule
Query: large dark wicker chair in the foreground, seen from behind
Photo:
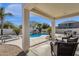
[[[52,42],[50,42],[51,46],[51,55],[55,56],[74,56],[75,51],[77,48],[78,43],[75,42],[56,42],[55,45],[53,45]],[[57,46],[57,52],[54,53],[54,46]]]

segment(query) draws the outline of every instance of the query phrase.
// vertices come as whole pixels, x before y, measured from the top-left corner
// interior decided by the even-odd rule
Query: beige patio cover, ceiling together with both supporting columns
[[[56,23],[55,21],[62,18],[68,18],[79,15],[79,4],[68,3],[26,3],[23,4],[23,40],[22,48],[25,52],[30,50],[29,36],[29,13],[34,12],[37,15],[48,18],[52,24],[52,41],[55,40]],[[38,20],[38,19],[37,19]],[[49,41],[50,42],[50,41]],[[49,47],[50,48],[50,47]],[[35,49],[35,48],[34,48]],[[43,49],[43,48],[42,48]],[[46,48],[45,48],[46,49]],[[30,55],[30,54],[29,54]],[[42,56],[42,54],[41,54]]]

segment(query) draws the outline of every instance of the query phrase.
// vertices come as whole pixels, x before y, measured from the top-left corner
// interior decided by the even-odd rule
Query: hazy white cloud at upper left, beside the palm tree
[[[14,16],[22,16],[21,4],[10,4],[6,7],[5,13],[12,13]]]

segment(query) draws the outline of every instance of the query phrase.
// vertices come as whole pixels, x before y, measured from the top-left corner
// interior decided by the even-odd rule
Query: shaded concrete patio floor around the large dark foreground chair
[[[51,56],[50,41],[31,47],[28,56]],[[79,56],[79,45],[75,56]]]

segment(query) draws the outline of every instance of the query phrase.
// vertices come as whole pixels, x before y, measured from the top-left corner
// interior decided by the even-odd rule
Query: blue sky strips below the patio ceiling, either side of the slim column
[[[39,19],[39,20],[38,20]],[[36,22],[40,22],[40,23],[46,23],[48,25],[51,26],[51,20],[41,17],[41,16],[36,16],[34,14],[30,14],[30,20],[31,21],[36,21]],[[79,21],[79,16],[74,16],[74,17],[70,17],[70,18],[63,18],[63,19],[58,19],[56,20],[56,26],[58,26],[58,24],[65,22],[65,21]]]

